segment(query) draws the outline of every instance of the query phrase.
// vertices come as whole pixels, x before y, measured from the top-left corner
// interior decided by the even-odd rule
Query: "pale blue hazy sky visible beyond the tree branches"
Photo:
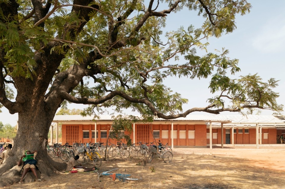
[[[228,57],[239,59],[238,66],[240,75],[258,73],[263,81],[275,78],[279,81],[279,86],[274,89],[279,93],[278,104],[285,105],[285,1],[284,0],[248,0],[252,5],[251,12],[244,16],[236,17],[237,29],[220,38],[210,38],[208,46],[209,52],[214,49],[228,49]],[[199,27],[203,18],[197,17],[197,12],[189,12],[183,9],[175,17],[167,17],[167,26],[165,30],[176,30],[180,26],[187,28],[192,24],[195,28]],[[181,63],[185,61],[180,60]],[[204,107],[208,105],[206,100],[213,97],[208,89],[209,79],[190,80],[187,78],[169,78],[164,84],[174,92],[181,94],[183,98],[189,100],[188,104],[183,105],[183,110],[193,107]],[[71,104],[69,109],[83,109],[84,105]],[[9,114],[6,108],[2,108],[0,113],[0,122],[15,126],[18,120],[18,114]],[[126,111],[127,114],[134,114]],[[206,114],[205,112],[193,112],[192,114]],[[238,114],[231,112],[222,112],[223,115]],[[262,115],[272,115],[269,110],[262,111]],[[285,114],[283,112],[283,114]]]

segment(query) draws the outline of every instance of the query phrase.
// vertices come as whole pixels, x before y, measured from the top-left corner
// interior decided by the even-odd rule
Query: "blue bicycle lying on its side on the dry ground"
[[[123,173],[114,173],[116,170],[118,170],[118,168],[104,171],[102,173],[98,173],[97,171],[94,171],[94,172],[98,174],[98,180],[99,180],[99,177],[102,177],[105,175],[108,175],[109,177],[111,177],[113,181],[115,181],[116,178],[118,178],[119,180],[123,182],[125,182],[126,180],[142,180],[142,177],[139,177],[139,176],[123,174]]]

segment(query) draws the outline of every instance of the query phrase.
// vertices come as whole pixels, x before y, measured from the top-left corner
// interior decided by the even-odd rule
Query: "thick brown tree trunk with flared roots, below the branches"
[[[25,150],[37,151],[37,167],[42,179],[58,174],[66,169],[66,163],[53,161],[47,154],[47,135],[54,116],[46,113],[43,108],[31,109],[19,113],[19,128],[14,140],[12,152],[7,161],[0,166],[0,187],[10,185],[20,180],[19,171],[22,168],[17,162]],[[28,139],[28,140],[27,140]],[[8,171],[9,170],[9,171]],[[39,173],[38,171],[38,173]],[[32,173],[28,172],[32,175]],[[25,177],[29,177],[27,174]],[[34,175],[32,175],[33,177]],[[32,179],[26,180],[30,182]],[[24,178],[25,181],[25,178]]]

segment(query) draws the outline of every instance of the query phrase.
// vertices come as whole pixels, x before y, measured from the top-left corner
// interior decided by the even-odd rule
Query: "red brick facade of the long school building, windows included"
[[[106,143],[107,136],[110,133],[111,124],[97,124],[97,138],[96,142]],[[89,143],[95,142],[95,125],[93,124],[69,124],[62,125],[62,143]],[[232,144],[232,129],[229,129],[230,133],[226,133],[224,129],[224,141],[223,143]],[[210,144],[210,139],[207,139],[207,133],[210,130],[206,125],[187,125],[187,124],[173,124],[174,138],[173,146],[207,146]],[[256,144],[256,129],[245,128],[235,129],[234,144]],[[130,133],[132,141],[135,142],[153,142],[152,133],[156,133],[156,141],[160,140],[163,144],[168,143],[172,145],[171,140],[171,124],[135,124],[135,140],[133,132]],[[276,136],[281,135],[282,131],[276,128],[262,129],[262,144],[276,144]],[[84,134],[83,134],[84,133]],[[192,134],[191,134],[192,133]],[[266,133],[266,134],[265,134]],[[127,134],[127,133],[125,133]],[[159,134],[159,135],[158,135]],[[227,134],[227,137],[226,137]],[[84,135],[84,136],[83,136]],[[101,136],[102,135],[102,136]],[[221,144],[221,128],[212,128],[212,143]],[[216,138],[214,137],[216,136]],[[190,138],[189,138],[190,136]],[[266,136],[266,137],[264,137]],[[114,139],[109,139],[111,143],[116,143]],[[124,142],[124,141],[123,141]]]

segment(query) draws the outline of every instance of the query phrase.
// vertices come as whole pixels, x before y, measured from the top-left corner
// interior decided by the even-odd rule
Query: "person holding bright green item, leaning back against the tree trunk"
[[[37,176],[37,172],[36,172],[36,164],[37,164],[37,160],[35,159],[35,157],[37,156],[37,151],[33,151],[31,152],[30,150],[26,150],[24,152],[25,154],[23,156],[21,156],[21,158],[18,161],[18,166],[21,166],[21,164],[23,164],[23,174],[22,177],[20,179],[20,184],[24,183],[23,179],[26,175],[26,173],[28,171],[32,171],[33,174],[35,175],[35,181],[39,182],[41,181],[38,176]]]

